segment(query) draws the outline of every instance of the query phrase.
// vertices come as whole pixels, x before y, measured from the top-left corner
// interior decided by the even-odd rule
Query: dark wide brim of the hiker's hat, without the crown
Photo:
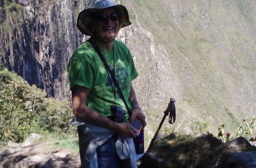
[[[129,20],[129,14],[128,11],[126,9],[125,6],[122,5],[115,5],[115,6],[111,6],[114,8],[117,8],[117,10],[119,12],[121,12],[121,19],[122,19],[122,27],[126,27],[127,25],[130,25],[131,22]],[[93,32],[92,30],[90,30],[89,26],[88,26],[88,21],[84,21],[84,19],[86,17],[89,16],[89,14],[91,14],[92,12],[97,12],[97,11],[101,11],[101,10],[105,10],[107,8],[110,7],[106,7],[106,8],[100,8],[100,9],[94,9],[94,8],[87,8],[83,11],[80,12],[78,18],[77,18],[77,28],[86,36],[93,36]]]

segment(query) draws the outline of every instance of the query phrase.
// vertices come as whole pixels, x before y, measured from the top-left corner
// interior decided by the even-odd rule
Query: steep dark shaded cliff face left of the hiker
[[[2,12],[5,18],[0,29],[3,64],[49,97],[69,96],[65,71],[82,40],[76,29],[76,11],[85,8],[84,1],[18,0],[10,5],[5,2],[6,6],[9,10]]]

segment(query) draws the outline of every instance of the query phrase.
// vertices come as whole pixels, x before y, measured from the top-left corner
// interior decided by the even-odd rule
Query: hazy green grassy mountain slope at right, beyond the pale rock
[[[170,5],[166,5],[168,2]],[[149,16],[143,20],[143,14],[141,14],[141,26],[152,32],[154,39],[161,38],[164,41],[160,43],[155,40],[170,54],[166,57],[174,60],[172,66],[176,71],[172,74],[175,72],[179,74],[178,80],[181,84],[185,83],[181,85],[183,89],[176,97],[177,104],[183,101],[183,105],[179,106],[182,106],[183,110],[187,109],[185,111],[191,111],[192,114],[200,110],[195,118],[203,115],[210,122],[215,120],[216,130],[222,122],[226,122],[234,129],[238,122],[241,122],[239,119],[242,120],[246,115],[253,116],[255,111],[255,103],[253,103],[255,97],[253,84],[255,83],[255,21],[252,18],[255,10],[253,1],[246,2],[250,4],[241,4],[239,1],[151,1],[147,7],[140,6],[140,11],[144,12],[145,16],[148,11],[156,13],[155,16],[167,12],[156,6],[172,9],[168,10],[169,17],[165,15],[165,18],[171,18],[166,22],[171,20],[171,23],[162,24],[162,29],[171,31],[155,30],[160,25],[158,24],[154,29],[156,25],[152,24],[154,18]],[[241,12],[245,11],[242,5],[249,8],[248,15]],[[197,10],[192,10],[192,8],[197,8]],[[244,19],[245,17],[247,19]],[[238,25],[240,20],[243,25]],[[247,20],[250,22],[247,23]],[[243,32],[245,29],[246,31]],[[168,42],[168,39],[174,40]],[[246,52],[243,51],[248,49],[245,46],[249,46]],[[245,92],[249,96],[246,96]],[[179,112],[182,110],[179,109]],[[216,120],[220,121],[216,122]]]

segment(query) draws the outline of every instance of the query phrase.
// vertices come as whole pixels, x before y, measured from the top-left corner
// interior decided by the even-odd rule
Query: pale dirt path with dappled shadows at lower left
[[[0,152],[1,168],[79,168],[80,156],[67,149],[48,147],[45,144],[32,144],[19,147],[7,145]]]

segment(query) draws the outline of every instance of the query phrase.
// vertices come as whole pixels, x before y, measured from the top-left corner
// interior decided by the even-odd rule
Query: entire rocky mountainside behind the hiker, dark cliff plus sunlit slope
[[[133,81],[154,134],[169,98],[172,130],[193,133],[197,121],[212,131],[235,131],[255,104],[255,1],[122,0],[131,26],[117,37],[139,72]],[[57,99],[70,99],[67,63],[86,38],[76,28],[86,1],[0,1],[1,65]],[[180,123],[183,122],[180,126]]]

